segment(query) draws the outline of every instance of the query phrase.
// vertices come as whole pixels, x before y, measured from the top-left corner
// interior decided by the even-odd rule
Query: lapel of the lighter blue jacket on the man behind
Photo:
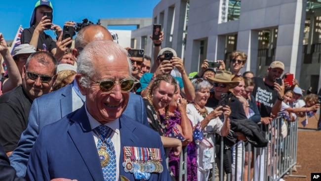
[[[61,94],[64,96],[60,99],[60,109],[61,109],[61,117],[65,117],[67,114],[73,112],[73,93],[72,93],[73,85],[70,84],[67,86],[64,92]]]

